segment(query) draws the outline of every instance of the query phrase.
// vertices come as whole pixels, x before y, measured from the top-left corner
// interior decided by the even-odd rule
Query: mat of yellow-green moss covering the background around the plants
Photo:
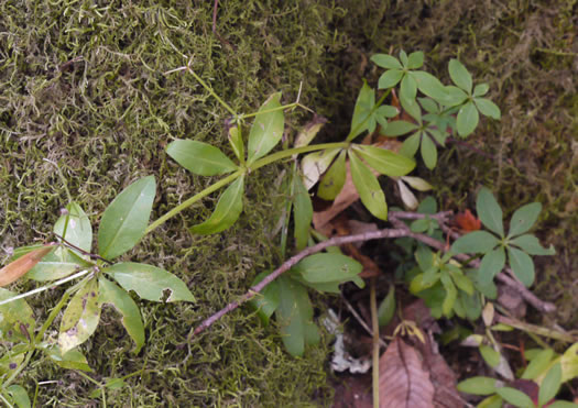
[[[51,231],[64,187],[94,220],[128,184],[159,180],[153,218],[204,188],[167,159],[175,137],[226,146],[228,113],[190,76],[163,73],[186,64],[240,112],[255,110],[273,91],[329,117],[326,137],[347,132],[362,77],[375,52],[423,49],[428,68],[447,76],[458,56],[475,78],[488,81],[502,108],[470,141],[493,161],[450,147],[433,181],[447,206],[472,207],[482,184],[499,191],[506,209],[531,200],[545,206],[538,234],[558,255],[538,261],[537,290],[559,301],[552,317],[576,328],[572,296],[578,278],[577,5],[568,1],[221,1],[211,33],[211,1],[3,1],[0,3],[0,245],[30,244]],[[296,126],[303,113],[288,118]],[[572,167],[574,163],[574,167]],[[281,168],[281,167],[280,167]],[[195,305],[141,304],[148,345],[132,344],[109,310],[85,345],[94,377],[105,381],[142,371],[130,387],[110,390],[112,406],[327,405],[327,342],[303,360],[291,359],[274,329],[248,311],[226,317],[190,344],[190,329],[247,289],[253,276],[280,263],[266,231],[274,223],[272,180],[280,168],[259,172],[248,186],[246,214],[230,231],[190,236],[186,227],[207,217],[204,201],[150,234],[127,257],[177,274]],[[427,173],[424,177],[432,178]],[[572,275],[574,274],[574,275]],[[19,287],[20,290],[24,286]],[[577,289],[575,289],[577,290]],[[37,316],[58,293],[31,300]],[[539,320],[539,319],[538,319]],[[188,359],[185,361],[185,359]],[[98,401],[78,374],[40,361],[21,384],[41,386],[43,405]]]

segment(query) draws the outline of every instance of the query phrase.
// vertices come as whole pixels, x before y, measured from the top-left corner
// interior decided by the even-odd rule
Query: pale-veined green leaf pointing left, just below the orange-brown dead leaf
[[[78,256],[76,252],[57,246],[30,269],[26,278],[37,282],[56,280],[91,266],[94,264]]]

